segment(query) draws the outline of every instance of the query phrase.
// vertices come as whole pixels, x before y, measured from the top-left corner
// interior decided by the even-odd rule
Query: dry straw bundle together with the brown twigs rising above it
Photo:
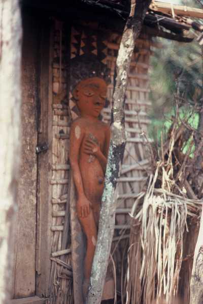
[[[157,162],[152,163],[154,175],[149,177],[147,190],[130,213],[126,304],[174,303],[179,292],[184,232],[188,231],[188,220],[197,218],[202,206],[191,170],[202,143],[191,157],[191,144],[186,154],[182,147],[189,137],[192,141],[194,130],[188,131],[186,123],[176,119],[169,132],[160,155],[153,157]]]

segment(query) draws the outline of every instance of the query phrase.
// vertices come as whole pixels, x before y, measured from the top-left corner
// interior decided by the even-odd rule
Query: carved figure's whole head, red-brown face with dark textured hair
[[[98,117],[106,104],[109,69],[94,56],[71,61],[70,89],[81,114]]]

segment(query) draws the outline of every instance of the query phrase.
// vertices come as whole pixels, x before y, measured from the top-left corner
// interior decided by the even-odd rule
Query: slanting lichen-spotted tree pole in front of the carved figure
[[[125,147],[124,104],[127,75],[135,41],[141,32],[142,23],[150,3],[151,0],[137,0],[135,4],[135,0],[131,0],[130,15],[118,51],[112,106],[111,141],[87,304],[100,304],[103,294],[114,234],[117,179],[120,175]]]

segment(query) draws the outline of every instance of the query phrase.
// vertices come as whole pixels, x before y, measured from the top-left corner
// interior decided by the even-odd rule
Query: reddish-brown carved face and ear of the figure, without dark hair
[[[105,106],[107,84],[98,77],[87,78],[79,82],[73,95],[81,114],[98,117]]]

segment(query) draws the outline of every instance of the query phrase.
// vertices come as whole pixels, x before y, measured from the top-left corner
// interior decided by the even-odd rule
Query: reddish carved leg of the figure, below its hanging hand
[[[91,267],[94,258],[94,251],[97,240],[97,227],[95,224],[95,219],[92,209],[87,217],[80,217],[80,223],[82,225],[83,231],[87,239],[87,250],[85,255],[84,263],[84,283],[83,283],[83,293],[86,296],[87,288],[89,285],[89,279],[91,275]]]

